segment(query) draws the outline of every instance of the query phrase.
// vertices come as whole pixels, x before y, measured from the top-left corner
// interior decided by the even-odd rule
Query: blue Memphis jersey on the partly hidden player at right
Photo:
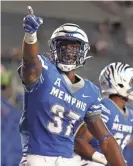
[[[133,114],[131,109],[125,107],[124,113],[112,100],[108,98],[102,99],[102,103],[108,108],[108,110],[102,110],[102,120],[116,139],[117,143],[123,151],[133,133]],[[91,141],[92,146],[100,151],[98,141],[93,139]]]

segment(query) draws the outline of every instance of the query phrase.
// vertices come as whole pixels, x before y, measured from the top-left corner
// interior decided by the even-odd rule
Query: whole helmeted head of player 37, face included
[[[76,24],[64,24],[57,28],[49,42],[51,59],[64,72],[82,66],[90,49],[87,35]]]

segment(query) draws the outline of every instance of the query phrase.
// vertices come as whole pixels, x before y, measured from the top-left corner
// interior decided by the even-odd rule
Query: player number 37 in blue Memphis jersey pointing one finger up
[[[79,165],[73,160],[73,130],[84,117],[94,136],[103,140],[101,148],[112,166],[125,166],[115,139],[100,119],[102,104],[97,88],[73,71],[89,58],[86,33],[76,24],[63,24],[50,38],[50,58],[38,55],[36,33],[43,21],[31,7],[28,11],[23,21],[23,62],[18,69],[25,87],[22,122],[27,118],[26,166]],[[109,144],[105,147],[106,139]]]

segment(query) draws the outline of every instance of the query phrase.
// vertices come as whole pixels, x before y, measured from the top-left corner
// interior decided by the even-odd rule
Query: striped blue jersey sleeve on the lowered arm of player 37
[[[104,113],[110,112],[104,104],[101,102],[101,98],[98,97],[95,102],[90,106],[89,110],[86,113],[85,119],[87,121],[93,121],[96,119],[102,119],[103,117],[105,118]],[[102,114],[103,113],[103,114]],[[107,117],[105,118],[107,119]]]

